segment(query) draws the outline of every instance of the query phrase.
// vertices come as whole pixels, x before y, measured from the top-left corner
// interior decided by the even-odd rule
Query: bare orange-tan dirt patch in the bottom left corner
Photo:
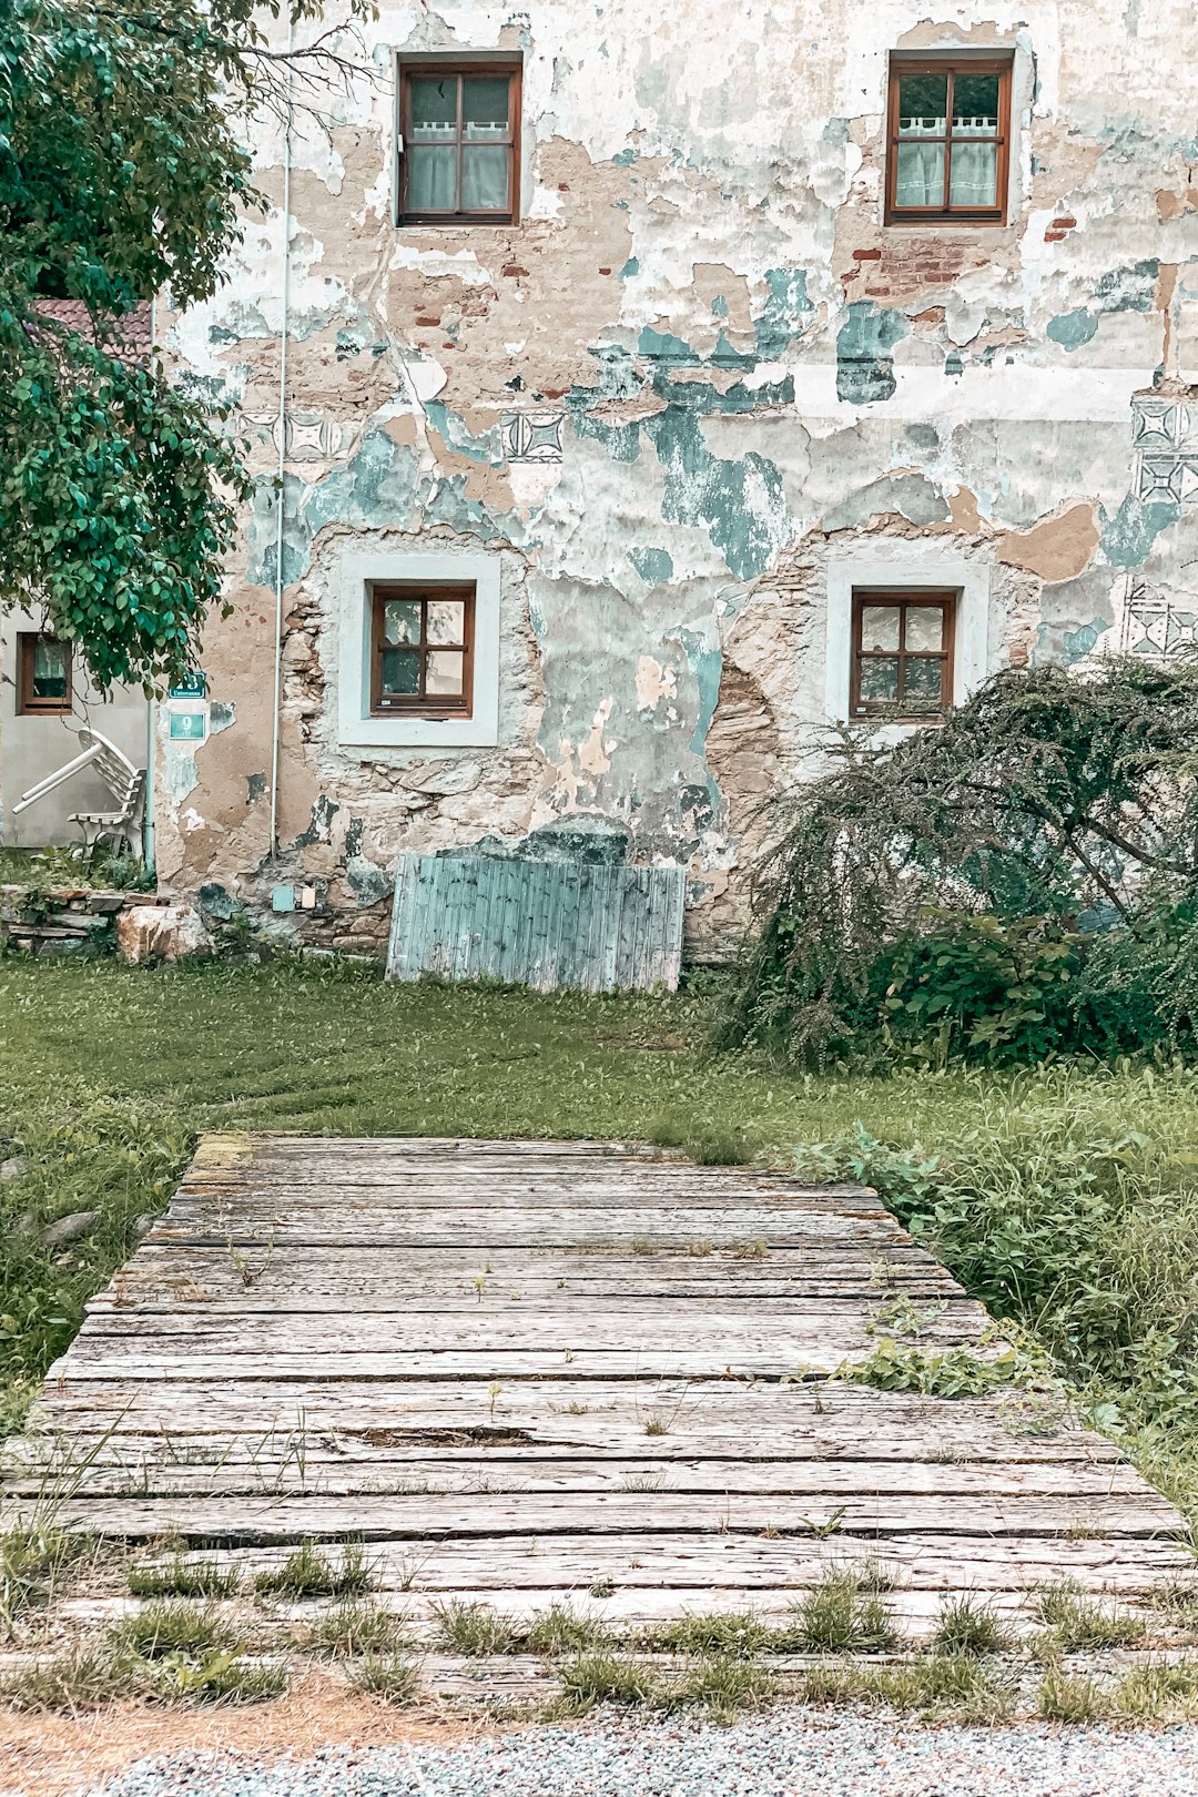
[[[187,1748],[307,1759],[318,1747],[447,1745],[487,1732],[485,1722],[411,1716],[363,1696],[336,1673],[295,1678],[273,1704],[246,1709],[113,1704],[88,1716],[0,1713],[0,1797],[83,1797],[151,1754]]]

